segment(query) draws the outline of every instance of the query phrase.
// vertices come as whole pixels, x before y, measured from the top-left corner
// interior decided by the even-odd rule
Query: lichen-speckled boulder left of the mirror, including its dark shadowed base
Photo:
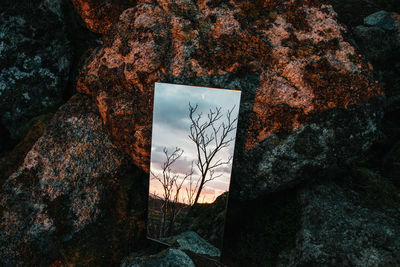
[[[0,265],[120,262],[144,231],[135,205],[145,203],[145,179],[128,167],[92,101],[72,97],[2,186]]]

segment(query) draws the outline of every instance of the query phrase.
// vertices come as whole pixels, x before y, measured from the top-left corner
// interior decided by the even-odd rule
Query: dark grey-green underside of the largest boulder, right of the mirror
[[[369,114],[367,120],[365,114]],[[268,138],[253,151],[239,154],[231,193],[251,199],[317,178],[319,170],[340,166],[354,159],[355,151],[372,145],[379,136],[376,123],[381,116],[378,103],[336,109],[320,114],[300,130]]]

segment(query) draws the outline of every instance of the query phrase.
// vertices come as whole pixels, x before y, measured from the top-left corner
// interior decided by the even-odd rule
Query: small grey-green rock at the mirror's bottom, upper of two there
[[[177,249],[189,250],[200,255],[207,255],[211,257],[219,257],[221,255],[219,249],[192,231],[183,232],[182,234],[163,239],[162,241]]]

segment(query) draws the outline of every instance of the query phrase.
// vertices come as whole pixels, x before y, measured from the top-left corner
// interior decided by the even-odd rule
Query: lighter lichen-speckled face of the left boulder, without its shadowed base
[[[61,242],[103,216],[123,164],[91,100],[74,96],[3,184],[1,265],[55,260]]]

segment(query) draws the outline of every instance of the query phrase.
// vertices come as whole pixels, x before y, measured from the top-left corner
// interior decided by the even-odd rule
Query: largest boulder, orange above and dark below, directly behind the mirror
[[[231,188],[254,198],[376,139],[383,93],[346,36],[321,1],[141,1],[87,59],[78,90],[144,170],[154,82],[242,90]]]

